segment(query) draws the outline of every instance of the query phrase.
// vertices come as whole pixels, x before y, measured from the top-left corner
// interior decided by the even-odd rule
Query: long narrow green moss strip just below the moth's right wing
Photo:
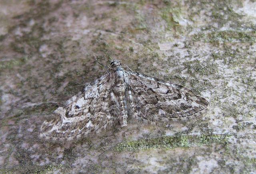
[[[157,138],[141,139],[136,141],[121,142],[115,147],[116,151],[124,150],[148,150],[152,148],[176,148],[202,146],[205,144],[228,144],[229,135],[177,135],[177,136],[161,136]]]

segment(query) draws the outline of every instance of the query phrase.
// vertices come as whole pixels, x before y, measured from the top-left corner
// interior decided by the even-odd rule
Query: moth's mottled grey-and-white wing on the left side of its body
[[[103,75],[54,111],[54,120],[42,124],[40,137],[49,140],[76,140],[88,134],[100,134],[118,121],[109,111],[112,84],[109,74]]]

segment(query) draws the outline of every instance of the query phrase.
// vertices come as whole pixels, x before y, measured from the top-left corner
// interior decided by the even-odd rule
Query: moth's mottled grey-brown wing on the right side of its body
[[[128,106],[134,120],[151,124],[187,121],[202,116],[209,103],[204,97],[175,83],[127,71],[130,84]]]

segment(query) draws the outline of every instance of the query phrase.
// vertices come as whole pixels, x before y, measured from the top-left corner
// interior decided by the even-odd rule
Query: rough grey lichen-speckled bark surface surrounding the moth
[[[255,172],[255,8],[254,0],[2,0],[0,173]],[[93,54],[185,85],[210,111],[168,127],[40,140],[52,111],[105,73]]]

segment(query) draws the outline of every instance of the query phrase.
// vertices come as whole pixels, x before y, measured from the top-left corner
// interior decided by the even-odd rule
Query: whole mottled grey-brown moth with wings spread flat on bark
[[[108,73],[58,107],[52,121],[44,121],[40,137],[77,140],[132,122],[168,125],[200,117],[208,109],[204,97],[182,85],[126,71],[118,60],[110,66]]]

